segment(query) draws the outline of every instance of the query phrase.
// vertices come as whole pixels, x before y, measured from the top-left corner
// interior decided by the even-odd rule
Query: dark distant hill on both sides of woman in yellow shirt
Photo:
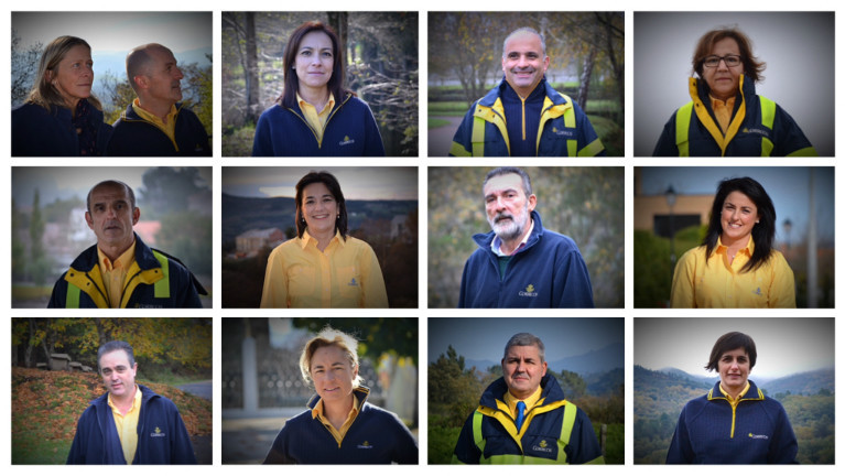
[[[391,220],[397,215],[407,215],[419,207],[416,201],[347,201],[349,229],[355,230],[368,219]],[[296,202],[291,197],[241,197],[223,194],[223,240],[252,228],[277,227],[284,231],[295,227]]]

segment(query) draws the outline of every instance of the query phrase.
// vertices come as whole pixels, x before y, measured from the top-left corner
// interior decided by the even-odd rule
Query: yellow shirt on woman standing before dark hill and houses
[[[324,251],[307,231],[267,260],[261,307],[387,307],[381,268],[369,245],[335,234]]]

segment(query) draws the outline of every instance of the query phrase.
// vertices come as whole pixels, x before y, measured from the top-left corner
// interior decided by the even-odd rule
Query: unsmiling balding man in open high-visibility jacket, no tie
[[[83,251],[53,286],[48,307],[202,307],[205,289],[176,258],[148,247],[132,188],[105,181],[88,192],[85,220],[97,245]]]

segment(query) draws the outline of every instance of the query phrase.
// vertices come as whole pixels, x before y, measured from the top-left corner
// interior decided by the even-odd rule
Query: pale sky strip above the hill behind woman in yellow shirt
[[[223,192],[243,197],[294,197],[308,172],[332,173],[346,199],[419,201],[416,167],[223,167]]]

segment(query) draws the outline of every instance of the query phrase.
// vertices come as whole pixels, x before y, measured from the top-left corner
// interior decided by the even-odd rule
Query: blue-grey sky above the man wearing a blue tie
[[[468,359],[499,361],[505,344],[521,332],[543,340],[546,361],[625,342],[620,317],[429,317],[429,361],[449,345]]]

